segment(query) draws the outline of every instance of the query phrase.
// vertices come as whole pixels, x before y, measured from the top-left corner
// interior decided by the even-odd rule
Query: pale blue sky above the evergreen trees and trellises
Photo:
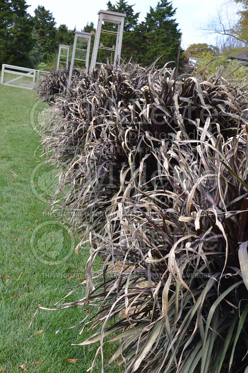
[[[207,24],[216,16],[217,8],[221,7],[224,0],[173,0],[173,7],[177,8],[176,18],[183,32],[182,46],[187,48],[193,43],[215,44],[215,35],[204,35],[200,26]],[[135,4],[135,12],[141,12],[140,21],[144,20],[149,7],[155,7],[157,0],[128,0]],[[68,28],[80,31],[87,21],[96,25],[100,9],[106,9],[107,0],[27,0],[30,5],[28,12],[33,15],[33,10],[38,5],[45,6],[53,13],[57,26],[65,23]],[[115,0],[112,0],[115,3]]]

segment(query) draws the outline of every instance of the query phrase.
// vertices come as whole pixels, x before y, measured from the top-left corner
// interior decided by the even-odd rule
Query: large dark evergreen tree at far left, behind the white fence
[[[28,57],[34,45],[32,19],[26,0],[1,0],[0,3],[0,65],[8,63],[32,67]]]

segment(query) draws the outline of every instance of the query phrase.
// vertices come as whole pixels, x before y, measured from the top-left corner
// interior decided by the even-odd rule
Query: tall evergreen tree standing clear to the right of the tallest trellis
[[[160,0],[153,9],[150,6],[145,17],[145,22],[140,26],[140,34],[143,38],[139,61],[144,65],[151,65],[162,55],[157,62],[158,67],[164,66],[166,62],[176,61],[181,32],[175,16],[172,2]],[[181,53],[180,61],[184,59]]]

